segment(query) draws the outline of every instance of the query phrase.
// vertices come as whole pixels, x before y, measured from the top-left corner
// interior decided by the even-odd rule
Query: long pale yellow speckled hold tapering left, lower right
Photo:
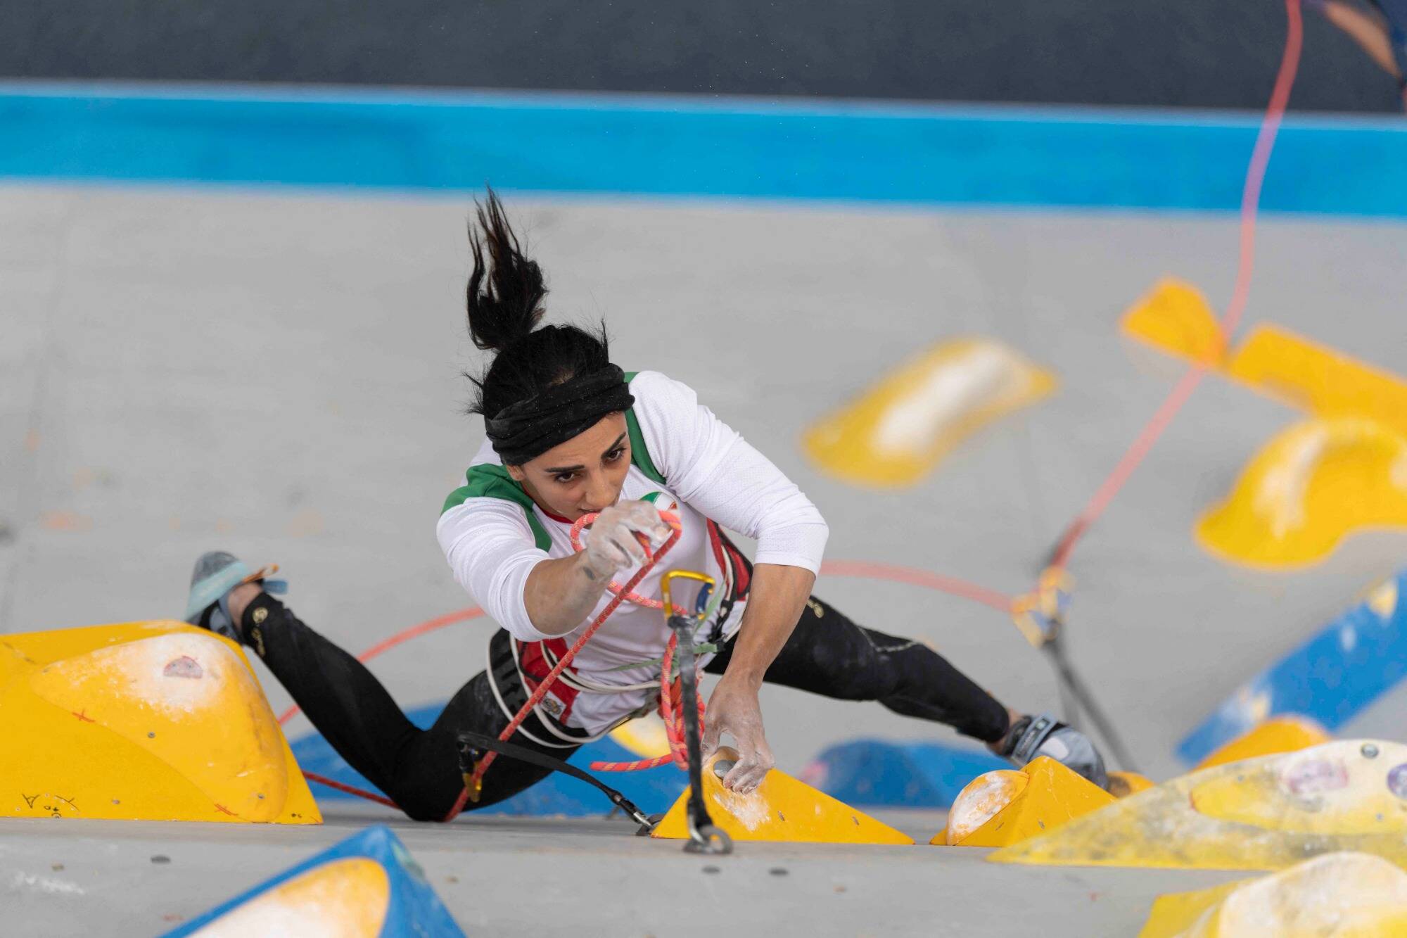
[[[1341,739],[1213,766],[989,859],[1282,869],[1330,851],[1361,851],[1407,865],[1407,745]]]

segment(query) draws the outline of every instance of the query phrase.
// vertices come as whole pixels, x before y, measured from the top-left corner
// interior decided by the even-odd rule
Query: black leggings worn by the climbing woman
[[[267,593],[249,604],[242,625],[246,644],[332,748],[418,821],[442,820],[463,789],[457,732],[498,735],[508,725],[484,672],[459,689],[435,725],[419,730],[362,662]],[[733,645],[727,644],[705,670],[723,673],[732,656]],[[840,700],[877,700],[895,713],[944,723],[983,742],[1007,730],[1006,708],[936,651],[855,625],[815,597],[767,669],[767,680]],[[533,723],[536,714],[528,720],[533,735],[547,735]],[[514,742],[561,759],[573,752],[547,749],[522,734]],[[499,758],[484,776],[478,803],[466,804],[466,810],[512,797],[547,773]]]

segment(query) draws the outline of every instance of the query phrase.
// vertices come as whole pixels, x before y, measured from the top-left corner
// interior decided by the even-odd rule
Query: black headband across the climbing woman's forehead
[[[625,372],[606,365],[504,407],[492,420],[484,420],[484,430],[494,452],[507,465],[521,466],[632,404]]]

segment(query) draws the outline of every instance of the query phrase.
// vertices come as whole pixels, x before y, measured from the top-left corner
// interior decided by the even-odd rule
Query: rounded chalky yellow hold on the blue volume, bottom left
[[[314,866],[250,897],[210,923],[193,938],[243,935],[328,935],[376,938],[386,924],[391,882],[366,856]]]

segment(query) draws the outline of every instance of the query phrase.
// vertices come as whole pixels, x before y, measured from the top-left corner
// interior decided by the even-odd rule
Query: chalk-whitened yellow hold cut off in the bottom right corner
[[[1407,873],[1368,853],[1325,853],[1259,879],[1154,900],[1138,938],[1407,935]]]

